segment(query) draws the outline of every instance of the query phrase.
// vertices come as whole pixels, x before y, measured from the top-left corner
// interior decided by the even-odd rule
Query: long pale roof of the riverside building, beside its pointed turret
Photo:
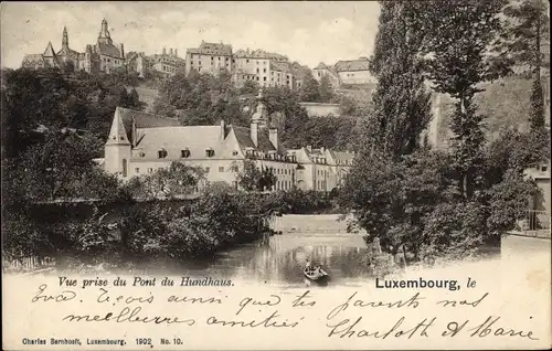
[[[203,159],[212,149],[214,159],[222,151],[220,126],[158,127],[138,130],[139,142],[134,148],[134,161],[158,159],[158,151],[166,150],[164,160],[180,160],[181,151],[190,151],[189,159]],[[141,156],[144,155],[144,156]]]

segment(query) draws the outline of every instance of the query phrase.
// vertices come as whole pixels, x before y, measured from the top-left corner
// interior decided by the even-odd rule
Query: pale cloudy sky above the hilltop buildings
[[[263,49],[310,67],[319,62],[370,56],[380,7],[372,1],[301,2],[2,2],[1,65],[18,68],[25,54],[43,53],[51,41],[83,52],[96,43],[105,18],[125,51],[185,50],[202,40],[237,49]]]

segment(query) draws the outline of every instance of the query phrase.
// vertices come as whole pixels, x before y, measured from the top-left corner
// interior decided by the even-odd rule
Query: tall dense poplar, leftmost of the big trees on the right
[[[364,152],[393,159],[420,148],[420,135],[431,119],[431,95],[424,87],[418,54],[423,28],[418,3],[384,1],[379,34],[371,59],[378,85],[365,130]]]

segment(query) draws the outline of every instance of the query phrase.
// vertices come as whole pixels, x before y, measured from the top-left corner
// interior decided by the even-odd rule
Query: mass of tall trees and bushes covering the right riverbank
[[[371,59],[380,79],[368,119],[371,128],[362,136],[368,147],[347,177],[340,203],[354,213],[353,224],[368,232],[367,242],[378,238],[384,253],[394,255],[405,246],[414,259],[465,257],[514,228],[529,209],[528,199],[538,192],[522,172],[550,157],[549,131],[506,128],[489,143],[482,130],[486,116],[475,103],[481,83],[509,72],[508,57],[489,55],[506,30],[500,19],[503,4],[381,4]],[[395,78],[388,79],[393,74]],[[404,121],[422,127],[428,120],[427,109],[401,103],[426,106],[426,97],[418,93],[420,75],[454,100],[447,152],[420,142],[422,128],[397,128]],[[404,85],[405,81],[418,84]],[[408,145],[407,140],[416,142],[390,147]]]

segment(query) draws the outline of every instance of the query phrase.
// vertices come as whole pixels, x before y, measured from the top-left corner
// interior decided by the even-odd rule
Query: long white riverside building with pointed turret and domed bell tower
[[[117,107],[100,164],[129,180],[180,161],[204,168],[208,182],[237,188],[237,172],[251,159],[272,169],[277,178],[274,190],[331,191],[342,182],[353,157],[323,148],[285,150],[259,94],[250,128],[224,121],[183,127],[176,119]]]

